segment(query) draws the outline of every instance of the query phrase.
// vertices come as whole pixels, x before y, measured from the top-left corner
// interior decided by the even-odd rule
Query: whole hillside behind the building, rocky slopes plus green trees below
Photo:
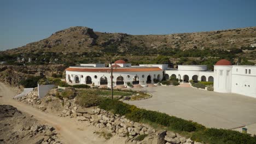
[[[104,57],[137,63],[213,64],[220,58],[233,63],[254,64],[256,27],[223,31],[167,35],[130,35],[94,32],[88,27],[70,27],[49,38],[0,52],[0,61],[17,64],[17,57],[34,64],[105,62]],[[57,58],[57,60],[56,60]]]

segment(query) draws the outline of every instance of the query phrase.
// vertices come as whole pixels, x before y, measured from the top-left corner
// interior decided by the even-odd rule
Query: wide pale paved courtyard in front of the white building
[[[152,93],[153,97],[127,103],[192,120],[206,127],[235,129],[252,125],[248,131],[256,133],[255,98],[192,87],[158,86],[140,90]]]

